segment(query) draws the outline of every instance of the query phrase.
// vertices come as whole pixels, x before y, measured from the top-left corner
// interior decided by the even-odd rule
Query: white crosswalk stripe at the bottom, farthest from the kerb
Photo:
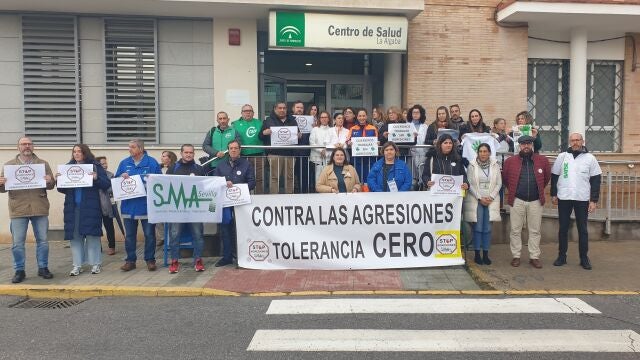
[[[635,342],[635,348],[634,348]],[[640,352],[631,330],[258,330],[248,351]]]

